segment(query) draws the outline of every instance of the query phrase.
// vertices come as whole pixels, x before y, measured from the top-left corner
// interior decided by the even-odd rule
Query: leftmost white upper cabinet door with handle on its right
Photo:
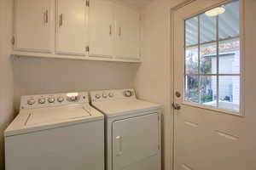
[[[15,0],[15,50],[52,51],[53,5],[51,0]]]

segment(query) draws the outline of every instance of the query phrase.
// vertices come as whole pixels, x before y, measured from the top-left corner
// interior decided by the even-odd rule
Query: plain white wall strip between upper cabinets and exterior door
[[[142,59],[135,87],[141,99],[163,105],[163,163],[172,169],[172,65],[170,59],[170,10],[183,0],[154,0],[143,8]]]

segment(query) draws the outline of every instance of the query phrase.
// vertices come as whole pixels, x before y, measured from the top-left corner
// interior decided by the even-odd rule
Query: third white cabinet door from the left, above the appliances
[[[108,0],[91,0],[89,13],[90,56],[113,56],[113,3]]]

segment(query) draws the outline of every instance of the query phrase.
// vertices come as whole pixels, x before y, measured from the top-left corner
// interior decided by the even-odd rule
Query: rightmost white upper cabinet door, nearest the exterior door
[[[140,20],[137,11],[115,5],[116,41],[115,56],[124,59],[139,58]]]

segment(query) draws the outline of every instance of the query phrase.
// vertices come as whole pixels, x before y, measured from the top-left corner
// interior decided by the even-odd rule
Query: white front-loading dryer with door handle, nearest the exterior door
[[[107,170],[160,170],[160,105],[133,89],[94,91],[91,104],[105,115]]]

